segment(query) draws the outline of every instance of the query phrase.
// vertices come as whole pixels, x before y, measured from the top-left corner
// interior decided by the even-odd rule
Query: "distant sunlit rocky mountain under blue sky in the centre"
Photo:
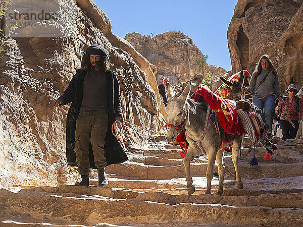
[[[193,78],[195,74],[203,76],[205,72],[209,72],[207,65],[203,72],[191,64],[191,58],[202,52],[181,32],[166,32],[153,38],[139,33],[128,33],[125,39],[151,64],[157,66],[158,83],[162,77],[168,77],[171,84],[177,85]],[[214,67],[214,71],[216,70]]]

